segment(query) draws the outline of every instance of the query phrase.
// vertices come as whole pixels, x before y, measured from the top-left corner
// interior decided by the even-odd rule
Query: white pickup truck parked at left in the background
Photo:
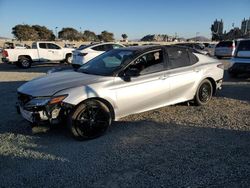
[[[62,48],[53,42],[34,42],[32,49],[5,49],[2,61],[29,68],[33,62],[65,61],[71,63],[73,48]]]

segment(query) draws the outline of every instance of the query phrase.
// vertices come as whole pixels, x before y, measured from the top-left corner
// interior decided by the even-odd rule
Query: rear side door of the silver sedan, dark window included
[[[170,83],[169,100],[172,104],[184,102],[194,97],[196,83],[201,70],[196,65],[198,58],[185,48],[168,47],[167,79]]]

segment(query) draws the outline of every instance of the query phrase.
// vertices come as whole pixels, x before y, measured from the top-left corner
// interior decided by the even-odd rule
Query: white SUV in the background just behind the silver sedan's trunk
[[[214,56],[218,59],[232,57],[237,46],[237,40],[221,41],[215,46]]]

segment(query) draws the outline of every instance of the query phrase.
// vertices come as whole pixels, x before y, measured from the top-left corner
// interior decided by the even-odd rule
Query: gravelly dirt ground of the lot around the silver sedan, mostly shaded
[[[249,78],[226,73],[207,106],[132,115],[78,142],[15,111],[17,87],[53,66],[0,63],[0,187],[250,187]]]

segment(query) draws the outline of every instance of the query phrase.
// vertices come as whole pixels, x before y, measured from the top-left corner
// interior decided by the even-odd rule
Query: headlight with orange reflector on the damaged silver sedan
[[[37,97],[31,99],[28,103],[25,104],[26,109],[39,108],[45,105],[58,104],[65,99],[67,95],[55,96],[55,97]]]

